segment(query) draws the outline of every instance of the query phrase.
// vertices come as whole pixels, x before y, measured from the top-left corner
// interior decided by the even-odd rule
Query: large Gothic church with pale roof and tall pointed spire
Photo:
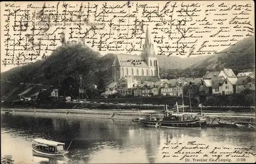
[[[140,56],[116,54],[112,65],[112,81],[117,82],[125,76],[133,76],[137,81],[160,80],[158,61],[148,28]]]

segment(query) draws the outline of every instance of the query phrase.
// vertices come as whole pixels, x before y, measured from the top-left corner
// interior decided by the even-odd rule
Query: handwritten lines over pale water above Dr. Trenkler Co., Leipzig
[[[167,141],[162,147],[162,158],[177,158],[185,162],[251,162],[255,161],[255,146],[229,147],[209,146],[189,141],[177,143]]]

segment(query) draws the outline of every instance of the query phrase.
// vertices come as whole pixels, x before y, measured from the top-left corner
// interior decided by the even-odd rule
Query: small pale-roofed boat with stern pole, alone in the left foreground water
[[[32,141],[33,151],[42,155],[63,156],[68,153],[68,149],[64,150],[64,147],[65,143],[45,139],[34,139]]]

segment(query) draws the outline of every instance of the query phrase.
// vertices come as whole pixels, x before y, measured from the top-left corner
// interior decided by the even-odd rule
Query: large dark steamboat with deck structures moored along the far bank
[[[167,105],[166,105],[167,106]],[[152,118],[140,120],[145,126],[153,126],[156,128],[164,127],[164,128],[196,128],[201,129],[201,121],[200,119],[191,119],[185,117],[184,115],[184,104],[178,105],[176,102],[177,113],[173,113],[173,111],[168,111],[167,108],[164,108],[164,117],[161,118]],[[179,113],[179,108],[183,108],[183,113]]]

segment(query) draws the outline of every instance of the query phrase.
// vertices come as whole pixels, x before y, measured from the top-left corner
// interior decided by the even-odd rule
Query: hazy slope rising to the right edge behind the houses
[[[234,46],[230,46],[220,54],[212,55],[209,58],[200,61],[189,68],[220,69],[231,68],[236,71],[255,68],[255,36],[240,40]]]

